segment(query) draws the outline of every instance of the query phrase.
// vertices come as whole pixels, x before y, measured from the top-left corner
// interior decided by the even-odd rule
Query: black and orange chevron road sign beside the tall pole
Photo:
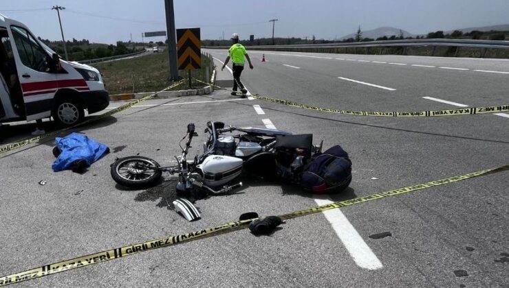
[[[201,48],[199,28],[177,29],[178,69],[199,69],[202,64]]]

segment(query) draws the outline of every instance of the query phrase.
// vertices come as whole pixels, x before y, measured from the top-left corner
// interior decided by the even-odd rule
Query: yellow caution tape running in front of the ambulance
[[[51,136],[55,136],[57,134],[60,134],[61,132],[64,132],[64,131],[72,129],[72,128],[76,128],[76,127],[78,127],[80,125],[85,125],[87,123],[92,123],[94,121],[98,121],[100,119],[104,119],[104,118],[106,118],[108,116],[111,116],[111,115],[113,115],[115,113],[118,113],[120,111],[126,110],[127,108],[131,108],[131,106],[136,105],[136,104],[138,104],[138,103],[140,103],[142,101],[151,99],[152,97],[154,97],[155,95],[157,95],[160,92],[170,90],[171,88],[175,88],[176,86],[179,86],[182,83],[184,83],[184,80],[180,80],[179,82],[177,82],[177,83],[175,83],[175,84],[173,84],[173,85],[171,85],[169,87],[166,87],[166,88],[162,89],[162,91],[155,92],[155,93],[152,93],[151,95],[148,95],[146,97],[133,100],[133,101],[127,103],[127,104],[124,104],[124,105],[122,105],[120,107],[117,107],[117,108],[115,108],[113,110],[110,110],[110,111],[108,111],[108,112],[106,112],[104,114],[101,114],[98,117],[94,117],[94,118],[88,119],[87,121],[83,121],[83,122],[78,123],[78,124],[76,124],[74,126],[63,128],[61,130],[50,132],[50,133],[47,133],[47,134],[43,134],[41,136],[35,136],[35,137],[32,137],[32,138],[23,139],[21,141],[15,142],[15,143],[10,143],[10,144],[7,144],[7,145],[0,146],[0,154],[9,152],[9,151],[17,149],[17,148],[21,148],[23,146],[26,146],[26,145],[29,145],[29,144],[32,144],[32,143],[37,143],[37,142],[41,141],[42,139],[45,139],[45,138],[48,138],[48,137],[51,137]]]

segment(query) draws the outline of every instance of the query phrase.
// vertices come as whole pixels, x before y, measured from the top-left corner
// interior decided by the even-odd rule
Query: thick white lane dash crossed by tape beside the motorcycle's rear
[[[320,196],[315,195],[314,201],[320,206],[332,203],[329,199],[319,199],[318,197]],[[384,267],[340,209],[323,211],[323,215],[325,215],[334,232],[336,232],[336,235],[338,235],[345,248],[347,248],[351,258],[354,259],[359,267],[369,270]]]

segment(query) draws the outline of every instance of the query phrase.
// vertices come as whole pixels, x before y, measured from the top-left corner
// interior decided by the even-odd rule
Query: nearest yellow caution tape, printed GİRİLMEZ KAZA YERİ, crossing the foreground
[[[352,205],[356,205],[356,204],[360,204],[360,203],[364,203],[364,202],[368,202],[368,201],[373,201],[373,200],[380,200],[382,198],[401,195],[404,193],[410,193],[410,192],[418,191],[421,189],[437,187],[437,186],[441,186],[444,184],[450,184],[453,182],[459,182],[462,180],[475,178],[475,177],[479,177],[479,176],[486,176],[488,174],[499,173],[501,171],[507,171],[507,170],[509,170],[509,165],[505,165],[503,167],[498,167],[498,168],[494,168],[494,169],[486,169],[486,170],[477,171],[477,172],[473,172],[473,173],[467,173],[467,174],[460,175],[460,176],[454,176],[454,177],[450,177],[450,178],[434,180],[431,182],[426,182],[423,184],[413,185],[413,186],[395,189],[395,190],[391,190],[391,191],[375,193],[375,194],[367,195],[364,197],[358,197],[358,198],[352,199],[352,200],[334,202],[334,203],[323,205],[323,206],[315,206],[312,208],[303,209],[301,211],[295,211],[292,213],[279,215],[279,217],[281,217],[281,219],[293,219],[293,218],[301,217],[304,215],[310,215],[310,214],[319,213],[319,212],[323,212],[323,211],[327,211],[327,210],[331,210],[331,209],[335,209],[335,208],[340,208],[340,207],[352,206]],[[256,219],[259,219],[259,218],[256,218]],[[0,277],[0,287],[10,285],[13,283],[20,283],[25,280],[30,280],[30,279],[34,279],[34,278],[40,278],[43,276],[51,275],[51,274],[56,274],[59,272],[64,272],[64,271],[71,270],[71,269],[85,267],[85,266],[96,264],[96,263],[102,263],[102,262],[113,260],[113,259],[119,259],[119,258],[129,256],[132,254],[137,254],[140,252],[145,252],[145,251],[154,250],[154,249],[163,248],[163,247],[169,247],[171,245],[175,245],[178,243],[184,243],[184,242],[188,242],[188,241],[202,239],[204,237],[211,237],[211,236],[219,235],[219,234],[225,233],[225,232],[232,232],[235,230],[240,230],[240,229],[246,228],[248,226],[248,224],[250,224],[254,220],[255,219],[232,221],[232,222],[222,224],[222,225],[219,225],[219,226],[216,226],[213,228],[197,230],[196,232],[166,237],[166,238],[162,238],[162,239],[155,239],[155,240],[137,243],[137,244],[133,244],[133,245],[127,245],[127,246],[124,246],[121,248],[106,250],[106,251],[102,251],[102,252],[98,252],[98,253],[94,253],[94,254],[89,254],[86,256],[80,256],[80,257],[66,260],[66,261],[53,263],[50,265],[44,265],[42,267],[36,267],[34,269],[30,269],[30,270],[27,270],[24,272],[19,272],[16,274],[10,274],[7,276]]]

